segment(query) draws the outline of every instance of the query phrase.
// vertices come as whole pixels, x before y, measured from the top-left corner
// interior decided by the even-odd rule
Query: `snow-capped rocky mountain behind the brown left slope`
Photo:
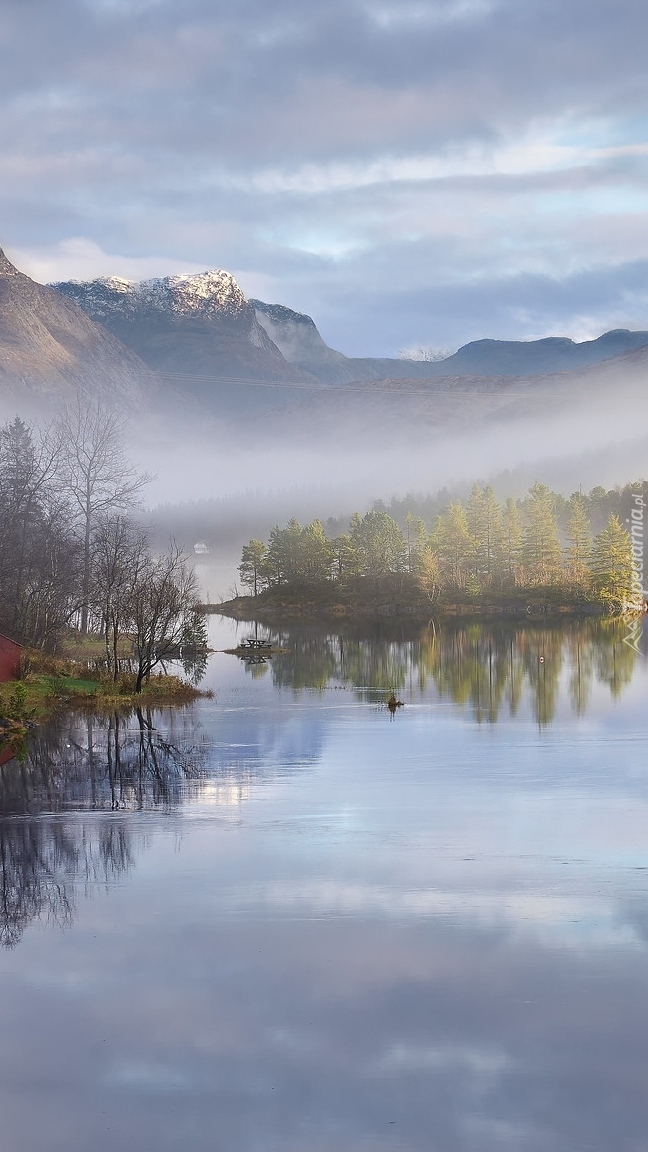
[[[120,276],[68,280],[51,287],[118,336],[175,391],[212,409],[268,407],[262,392],[240,387],[248,381],[294,385],[306,379],[317,385],[285,359],[228,272],[140,283]]]

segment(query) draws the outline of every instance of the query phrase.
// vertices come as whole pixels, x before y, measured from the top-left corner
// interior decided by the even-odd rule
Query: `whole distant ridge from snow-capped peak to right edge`
[[[193,376],[193,393],[204,400],[210,395],[210,378],[334,386],[384,379],[530,377],[598,364],[648,346],[648,331],[619,328],[582,342],[566,336],[476,340],[434,362],[351,357],[325,343],[310,316],[248,300],[234,276],[221,268],[138,283],[108,276],[51,287],[108,328],[153,371],[179,380]],[[242,402],[242,395],[238,400]]]

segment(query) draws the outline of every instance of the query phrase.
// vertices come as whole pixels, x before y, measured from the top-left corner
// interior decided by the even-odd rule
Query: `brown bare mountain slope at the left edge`
[[[53,288],[23,275],[0,249],[0,402],[30,415],[76,392],[129,408],[155,395],[152,372]]]

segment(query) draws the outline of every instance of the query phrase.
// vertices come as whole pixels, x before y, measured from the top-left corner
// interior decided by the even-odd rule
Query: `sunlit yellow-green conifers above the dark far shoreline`
[[[451,502],[431,524],[408,513],[401,526],[375,507],[364,516],[355,513],[348,530],[333,537],[318,520],[304,526],[291,520],[286,528],[274,526],[268,543],[250,540],[243,547],[241,583],[254,596],[279,585],[331,582],[369,591],[398,576],[402,590],[416,589],[430,601],[552,589],[568,600],[639,607],[643,485],[627,490],[628,521],[631,505],[635,509],[634,544],[619,515],[593,530],[598,492],[565,500],[535,483],[523,500],[500,503],[492,487],[475,484],[465,502]]]

